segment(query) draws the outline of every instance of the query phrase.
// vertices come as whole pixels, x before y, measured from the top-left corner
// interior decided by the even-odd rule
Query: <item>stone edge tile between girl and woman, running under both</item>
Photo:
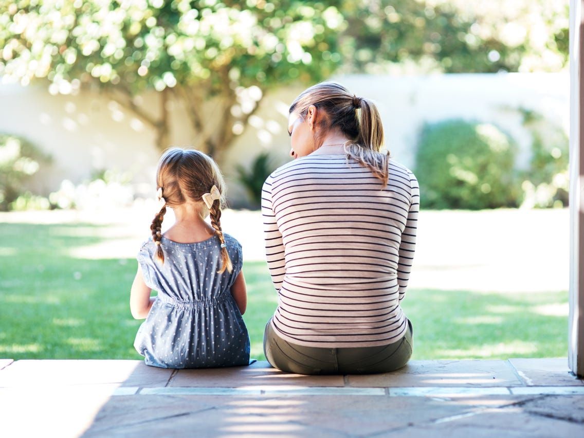
[[[283,373],[270,367],[267,361],[258,361],[247,367],[179,370],[171,379],[170,387],[237,388],[255,385],[345,386],[343,376],[303,376]]]

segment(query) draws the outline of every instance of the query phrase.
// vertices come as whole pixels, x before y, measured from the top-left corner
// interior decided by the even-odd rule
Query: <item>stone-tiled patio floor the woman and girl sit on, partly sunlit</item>
[[[0,360],[5,437],[575,437],[567,360],[420,360],[369,376],[135,360]]]

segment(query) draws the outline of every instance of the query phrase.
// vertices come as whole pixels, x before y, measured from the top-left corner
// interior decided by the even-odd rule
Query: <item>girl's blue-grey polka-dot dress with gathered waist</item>
[[[158,295],[138,329],[134,347],[145,363],[162,368],[209,368],[249,364],[249,335],[231,286],[242,266],[241,244],[224,234],[233,263],[221,267],[220,241],[179,244],[162,237],[164,265],[148,239],[138,252],[144,282]]]

